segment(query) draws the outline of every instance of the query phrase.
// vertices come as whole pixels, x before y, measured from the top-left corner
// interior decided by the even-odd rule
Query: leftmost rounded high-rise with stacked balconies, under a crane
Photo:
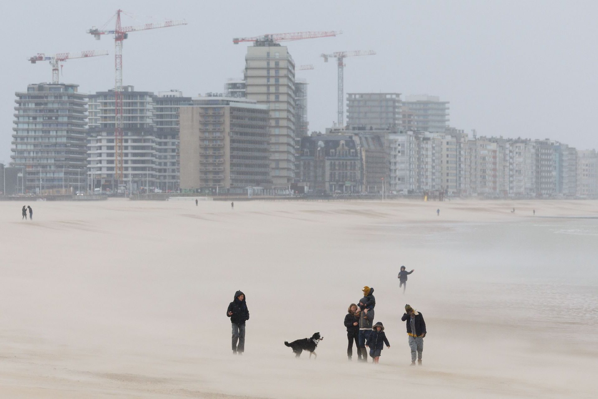
[[[85,187],[87,96],[77,89],[39,83],[15,93],[11,159],[25,169],[25,192],[66,194]]]

